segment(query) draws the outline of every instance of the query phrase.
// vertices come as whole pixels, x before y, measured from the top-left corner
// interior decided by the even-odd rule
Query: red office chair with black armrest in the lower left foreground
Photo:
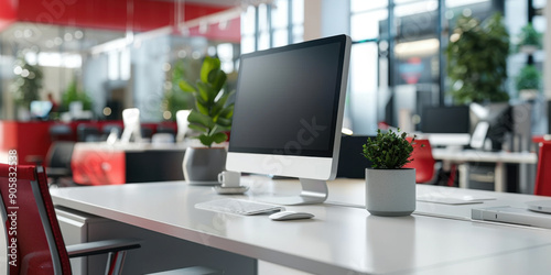
[[[0,212],[9,265],[0,274],[72,274],[69,257],[109,253],[106,274],[119,274],[137,240],[108,240],[65,246],[40,166],[0,164]]]

